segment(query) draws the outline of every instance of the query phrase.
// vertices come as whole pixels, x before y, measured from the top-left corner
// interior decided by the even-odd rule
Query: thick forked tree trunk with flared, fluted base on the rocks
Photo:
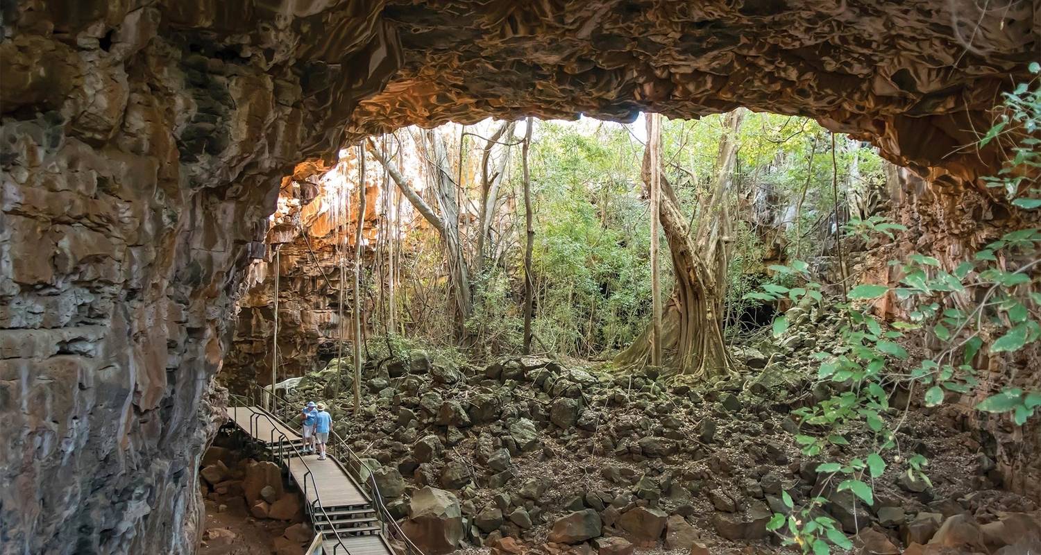
[[[737,132],[743,109],[734,110],[725,120],[725,134],[719,144],[715,187],[708,204],[701,207],[695,234],[680,210],[676,193],[660,175],[659,199],[662,230],[668,244],[676,274],[676,285],[662,319],[662,365],[697,377],[726,374],[730,371],[722,335],[723,304],[727,296],[729,252],[727,190],[737,154]],[[651,152],[644,150],[642,177],[651,186]],[[618,354],[619,365],[644,364],[651,352],[652,328],[649,326],[633,345]]]

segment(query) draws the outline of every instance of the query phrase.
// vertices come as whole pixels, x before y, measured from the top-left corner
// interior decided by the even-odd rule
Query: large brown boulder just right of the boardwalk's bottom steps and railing
[[[458,499],[443,489],[420,489],[409,500],[408,519],[402,529],[424,553],[445,555],[454,551],[463,537]]]

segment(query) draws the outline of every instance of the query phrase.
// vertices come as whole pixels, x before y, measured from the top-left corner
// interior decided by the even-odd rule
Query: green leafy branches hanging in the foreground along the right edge
[[[1032,69],[1035,73],[1038,70]],[[1006,113],[981,140],[981,146],[1010,133],[1011,127],[1020,134],[1010,150],[1008,163],[988,181],[992,186],[1005,187],[1017,206],[1036,208],[1041,202],[1034,202],[1031,196],[1041,193],[1036,181],[1041,169],[1041,149],[1037,148],[1036,138],[1041,130],[1038,87],[1035,85],[1032,91],[1030,85],[1020,85],[1006,94],[1005,108]],[[871,234],[891,239],[895,230],[903,228],[875,217],[850,221],[845,227],[846,233],[865,239]],[[1041,294],[1031,288],[1032,271],[1036,273],[1036,267],[1041,264],[1039,254],[1041,230],[1020,229],[988,244],[972,261],[953,270],[944,269],[934,257],[912,254],[905,260],[890,262],[898,267],[903,276],[897,287],[858,284],[849,288],[845,295],[848,301],[834,304],[846,322],[840,330],[842,346],[835,352],[815,355],[820,360],[818,379],[832,382],[837,393],[792,414],[814,430],[812,435],[801,433],[794,437],[805,455],[833,453],[834,446],[850,446],[853,438],[857,439],[862,455],[822,462],[817,472],[829,475],[829,479],[841,480],[838,490],[848,489],[868,505],[873,504],[874,497],[871,480],[882,477],[888,468],[902,468],[908,476],[931,483],[924,472],[929,462],[923,456],[915,454],[906,459],[900,456],[895,428],[903,418],[893,415],[908,407],[889,405],[891,394],[897,388],[923,392],[926,406],[941,405],[948,394],[951,397],[987,394],[976,404],[977,410],[1009,414],[1016,425],[1033,417],[1041,405],[1041,393],[1019,387],[981,390],[973,361],[988,343],[991,357],[1008,357],[1041,339],[1038,311]],[[810,281],[804,262],[771,269],[782,277],[799,276],[806,284],[791,287],[790,281],[785,285],[767,283],[761,292],[753,294],[756,298],[779,300],[793,291],[808,294],[820,288]],[[907,321],[886,325],[870,316],[870,301],[890,293],[911,304]],[[792,299],[806,294],[795,294]],[[963,302],[955,302],[956,298]],[[970,300],[967,307],[965,299]],[[775,335],[783,334],[786,329],[783,318],[775,321]],[[911,355],[896,343],[908,332],[923,335],[928,344],[941,348],[931,354],[916,353],[911,363]],[[848,549],[848,539],[841,532],[810,519],[811,511],[826,503],[827,500],[817,498],[798,511],[787,515],[777,513],[769,528],[782,533],[787,543],[801,546],[804,553],[829,553],[832,546]]]

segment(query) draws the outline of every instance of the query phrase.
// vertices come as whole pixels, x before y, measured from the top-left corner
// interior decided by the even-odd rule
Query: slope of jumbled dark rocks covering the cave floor
[[[987,447],[941,412],[918,410],[897,432],[932,459],[932,486],[894,468],[875,482],[874,506],[835,493],[814,471],[821,460],[802,456],[789,412],[830,395],[797,361],[837,334],[816,313],[789,318],[797,328],[781,345],[738,350],[738,372],[707,384],[654,369],[534,357],[473,367],[412,351],[364,370],[357,415],[350,369],[335,362],[294,395],[331,404],[335,430],[432,555],[784,552],[765,529],[785,511],[782,490],[796,505],[828,497],[863,553],[1025,553],[1005,546],[1039,531],[1039,514],[1025,514],[1037,507],[996,489]]]

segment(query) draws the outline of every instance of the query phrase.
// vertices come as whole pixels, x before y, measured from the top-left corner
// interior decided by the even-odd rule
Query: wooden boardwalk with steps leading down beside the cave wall
[[[302,438],[296,430],[280,422],[275,415],[257,406],[228,407],[228,419],[253,439],[266,445],[280,456],[289,477],[307,499],[307,510],[318,536],[312,544],[324,555],[392,555],[393,551],[380,534],[373,501],[351,478],[351,475],[332,456],[319,460],[318,455],[296,456],[299,451],[280,452],[279,442],[284,439],[300,445]],[[330,513],[345,509],[369,514],[359,519],[333,518]],[[335,531],[333,531],[335,530]],[[338,533],[339,537],[336,537]],[[309,551],[316,555],[319,551]],[[421,554],[422,555],[422,554]]]

